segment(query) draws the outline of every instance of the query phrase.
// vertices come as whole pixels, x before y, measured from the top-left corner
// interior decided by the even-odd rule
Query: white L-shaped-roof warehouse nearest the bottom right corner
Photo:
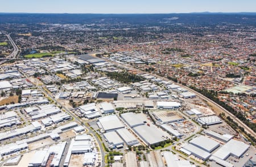
[[[230,155],[240,158],[249,149],[249,147],[249,145],[243,142],[231,139],[228,143],[224,144],[220,149],[218,149],[213,156],[221,160],[228,159]]]

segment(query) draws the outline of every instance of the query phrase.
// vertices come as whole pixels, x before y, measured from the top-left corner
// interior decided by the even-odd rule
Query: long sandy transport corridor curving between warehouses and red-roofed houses
[[[92,55],[92,56],[96,57],[95,55]],[[98,58],[98,57],[97,57],[97,58]],[[106,58],[102,58],[102,59],[104,59],[104,60],[107,61],[107,62],[111,62],[111,63],[113,63],[113,64],[115,64],[115,65],[118,65],[118,66],[126,66],[126,67],[129,67],[129,68],[133,69],[133,70],[136,70],[136,71],[139,71],[139,72],[143,72],[143,73],[147,73],[147,74],[150,74],[150,75],[154,75],[154,76],[156,76],[157,78],[160,78],[160,79],[163,79],[163,80],[168,80],[167,78],[164,78],[164,77],[162,77],[162,76],[159,76],[159,75],[156,75],[156,74],[152,74],[152,73],[150,73],[150,72],[146,72],[146,71],[142,71],[142,70],[139,70],[139,69],[137,69],[137,68],[134,68],[133,66],[131,66],[131,65],[129,65],[129,64],[123,65],[123,64],[121,64],[121,63],[117,63],[117,62],[114,62],[114,61],[110,61],[109,59],[106,59]],[[243,123],[243,122],[242,122],[240,119],[238,119],[235,115],[233,115],[232,113],[230,113],[228,110],[224,109],[222,106],[218,105],[216,102],[214,102],[214,101],[208,99],[207,97],[201,95],[199,92],[196,92],[196,91],[194,91],[193,89],[191,89],[191,88],[189,88],[189,87],[186,87],[186,86],[184,86],[184,85],[182,85],[182,84],[179,84],[179,83],[175,83],[175,84],[179,85],[180,87],[186,88],[186,89],[188,89],[189,91],[195,93],[195,95],[197,95],[197,96],[200,97],[201,99],[207,101],[208,104],[214,105],[218,110],[221,111],[221,113],[225,113],[226,116],[229,116],[230,118],[233,118],[234,122],[237,122],[237,123],[238,123],[238,126],[243,127],[243,129],[245,129],[245,131],[246,131],[247,133],[249,133],[249,134],[253,135],[254,137],[256,137],[255,132],[254,132],[253,130],[251,130],[250,127],[248,127],[247,125],[245,125],[245,123]],[[215,111],[215,112],[216,112],[216,111]]]

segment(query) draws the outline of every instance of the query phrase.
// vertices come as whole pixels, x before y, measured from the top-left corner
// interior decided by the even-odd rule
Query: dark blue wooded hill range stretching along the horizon
[[[171,19],[175,18],[175,19]],[[256,25],[256,13],[191,14],[10,14],[0,13],[0,23],[131,23],[159,24],[249,24]]]

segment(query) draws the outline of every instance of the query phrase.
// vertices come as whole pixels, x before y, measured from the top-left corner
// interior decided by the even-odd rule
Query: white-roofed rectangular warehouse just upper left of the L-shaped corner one
[[[189,143],[207,152],[212,152],[220,146],[220,143],[203,135],[190,140]]]

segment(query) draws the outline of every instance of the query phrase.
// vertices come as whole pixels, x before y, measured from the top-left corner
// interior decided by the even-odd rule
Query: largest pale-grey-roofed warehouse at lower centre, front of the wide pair
[[[141,125],[134,127],[133,130],[146,142],[148,145],[163,142],[169,139],[167,132],[162,131],[155,125]]]

